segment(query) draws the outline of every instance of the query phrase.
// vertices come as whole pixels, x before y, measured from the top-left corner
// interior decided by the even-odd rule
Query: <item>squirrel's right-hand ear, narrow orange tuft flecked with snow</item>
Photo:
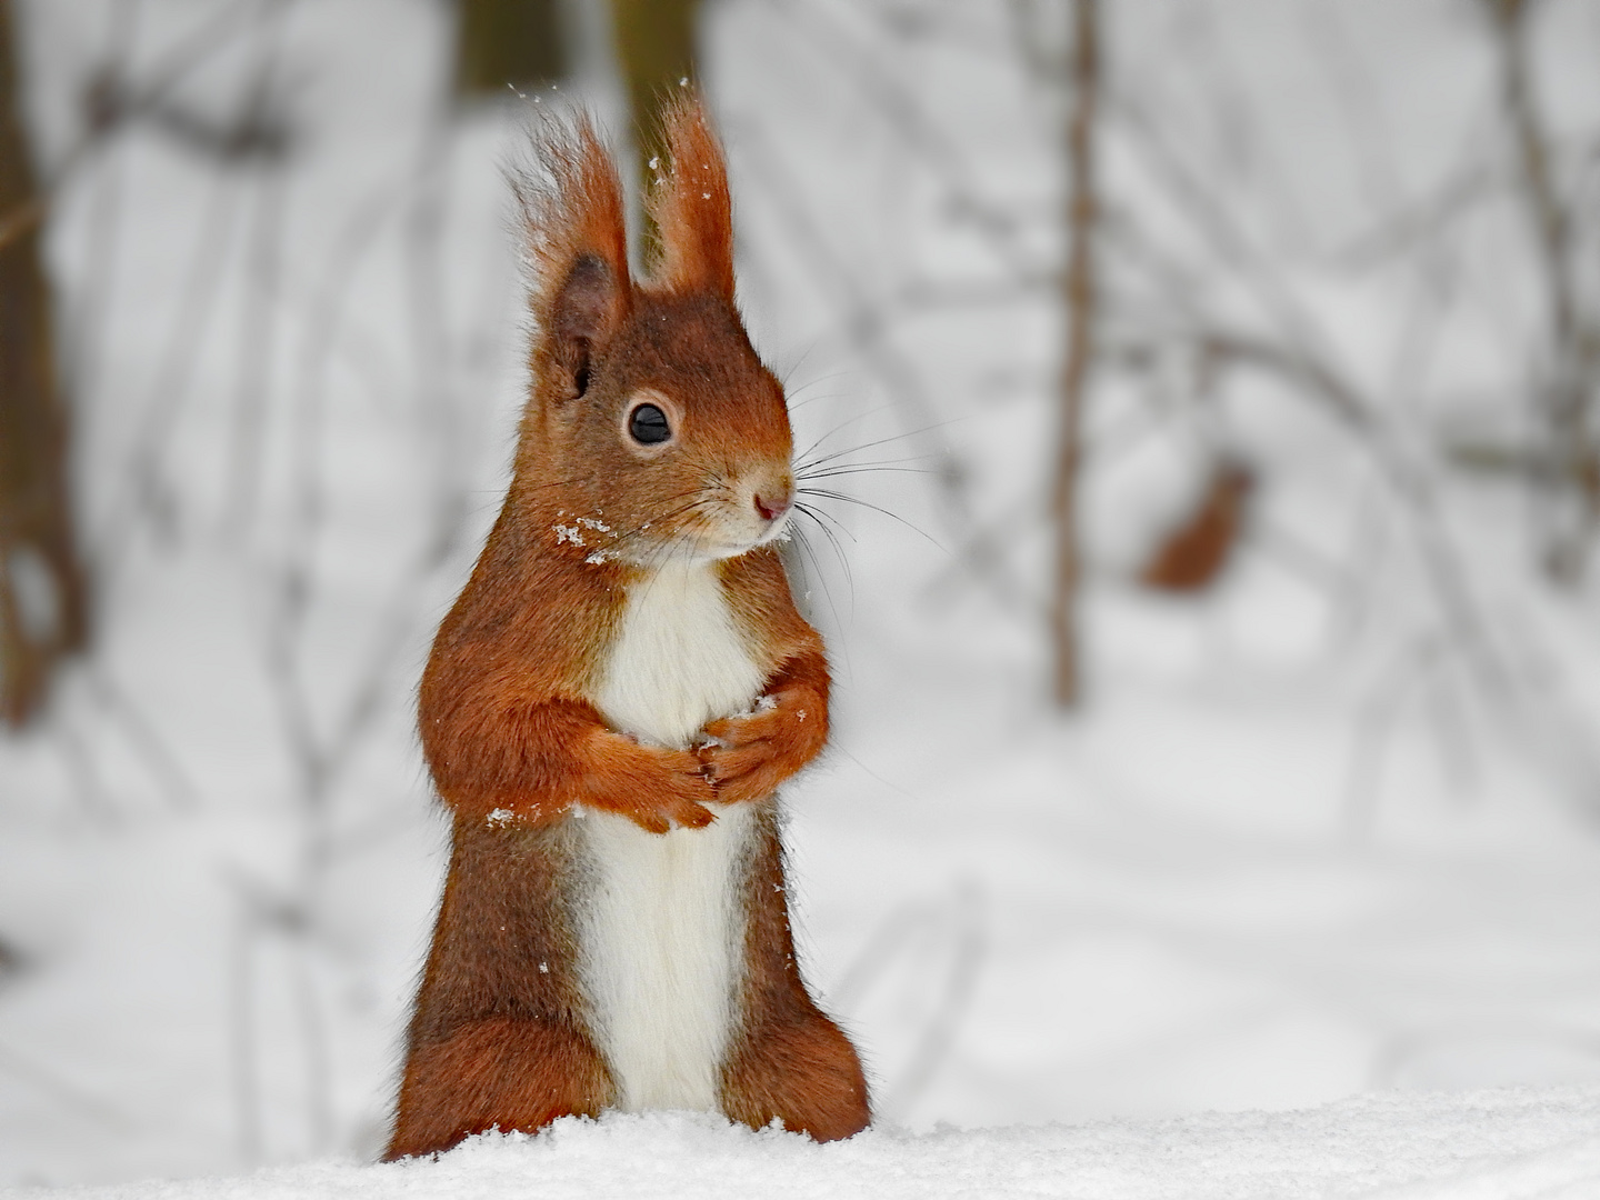
[[[650,216],[661,235],[651,283],[733,301],[733,206],[722,146],[691,91],[666,106],[661,141],[670,166],[656,176]]]

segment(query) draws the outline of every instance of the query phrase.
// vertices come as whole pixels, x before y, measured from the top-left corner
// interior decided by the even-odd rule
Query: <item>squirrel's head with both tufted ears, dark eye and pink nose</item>
[[[594,563],[728,558],[779,536],[794,504],[784,390],[734,307],[722,147],[694,96],[664,125],[640,282],[587,120],[546,125],[547,176],[518,187],[534,331],[512,501],[549,526],[534,536]]]

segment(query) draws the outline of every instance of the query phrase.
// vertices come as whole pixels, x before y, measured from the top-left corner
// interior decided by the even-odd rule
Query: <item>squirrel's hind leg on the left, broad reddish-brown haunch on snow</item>
[[[413,1048],[384,1162],[438,1154],[486,1130],[533,1133],[558,1117],[597,1117],[613,1091],[582,1030],[528,1018],[472,1021]]]

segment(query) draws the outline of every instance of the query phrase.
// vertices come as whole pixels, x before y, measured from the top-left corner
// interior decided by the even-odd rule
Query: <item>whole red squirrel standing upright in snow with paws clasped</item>
[[[734,307],[699,102],[664,133],[643,280],[586,120],[536,133],[549,174],[518,187],[531,386],[422,674],[453,840],[386,1158],[606,1109],[819,1141],[870,1118],[789,928],[776,789],[827,739],[829,674],[774,546],[787,405]]]

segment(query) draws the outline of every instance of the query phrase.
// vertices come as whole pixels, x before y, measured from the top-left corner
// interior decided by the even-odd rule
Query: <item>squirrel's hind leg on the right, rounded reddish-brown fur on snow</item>
[[[856,1048],[814,1008],[746,1035],[723,1070],[722,1110],[752,1130],[776,1117],[819,1142],[850,1138],[872,1120]]]

